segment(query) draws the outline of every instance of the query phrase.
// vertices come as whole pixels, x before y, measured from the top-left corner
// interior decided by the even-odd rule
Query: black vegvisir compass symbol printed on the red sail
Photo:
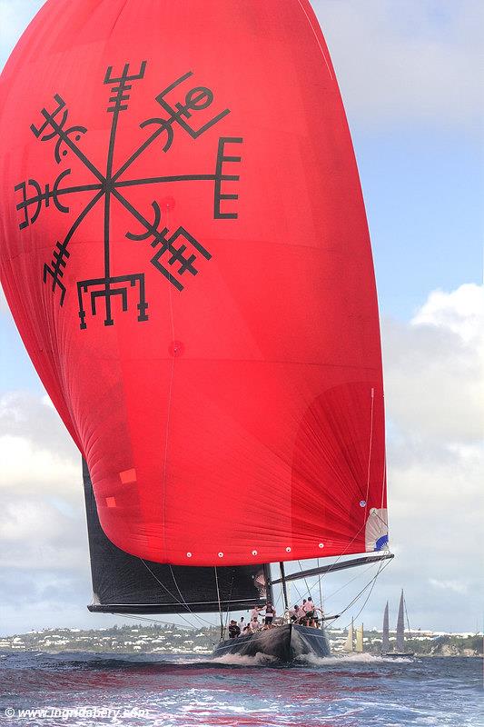
[[[150,222],[123,194],[123,188],[139,185],[153,185],[172,182],[212,182],[213,184],[213,218],[236,219],[237,213],[229,204],[231,200],[237,200],[238,194],[224,194],[222,184],[224,182],[238,182],[238,174],[227,174],[227,164],[236,164],[241,161],[241,156],[234,151],[233,144],[242,144],[241,137],[221,136],[218,141],[218,148],[215,160],[215,168],[209,174],[178,174],[175,176],[153,176],[145,179],[122,179],[122,175],[157,139],[162,137],[163,153],[170,151],[177,132],[189,134],[192,139],[198,139],[208,129],[218,124],[226,115],[229,109],[208,118],[203,116],[204,123],[197,124],[196,115],[212,105],[214,97],[212,91],[206,86],[198,85],[191,87],[193,72],[190,71],[173,81],[156,96],[155,101],[162,107],[159,116],[146,119],[140,124],[141,128],[148,128],[151,134],[143,141],[143,144],[131,154],[123,165],[114,171],[114,148],[116,134],[118,133],[119,116],[128,109],[130,94],[133,84],[141,81],[146,70],[146,62],[140,65],[139,71],[130,74],[130,65],[125,64],[121,75],[115,75],[113,66],[110,66],[104,76],[104,84],[111,86],[111,96],[106,109],[112,114],[111,134],[107,150],[106,171],[103,174],[90,159],[83,153],[79,143],[87,129],[81,125],[68,124],[69,109],[64,99],[54,95],[54,104],[50,110],[43,108],[41,111],[41,123],[32,124],[31,130],[41,142],[54,140],[54,159],[61,164],[68,154],[74,154],[77,159],[94,176],[93,184],[67,185],[67,177],[71,169],[64,169],[57,176],[54,184],[39,184],[35,179],[28,179],[15,186],[15,192],[21,196],[16,209],[21,216],[19,227],[21,230],[29,225],[35,224],[36,219],[44,208],[47,208],[52,200],[54,207],[61,213],[67,214],[68,196],[80,192],[93,192],[94,196],[87,204],[81,214],[77,216],[69,228],[62,242],[56,242],[50,263],[44,264],[44,283],[52,281],[52,291],[60,291],[59,304],[64,304],[67,293],[63,282],[64,272],[71,252],[69,243],[74,233],[81,226],[85,217],[94,208],[94,205],[104,200],[104,274],[100,277],[90,278],[77,282],[77,299],[79,304],[79,319],[81,329],[86,324],[86,300],[91,314],[98,312],[100,302],[104,303],[104,325],[114,325],[113,300],[118,297],[121,300],[122,310],[128,310],[128,293],[131,289],[136,291],[138,321],[147,321],[148,303],[145,296],[144,274],[123,274],[113,275],[111,272],[111,214],[112,200],[122,204],[133,219],[141,225],[142,231],[127,231],[125,236],[133,241],[149,241],[156,251],[150,263],[172,284],[177,290],[183,291],[187,280],[187,274],[196,275],[199,273],[199,260],[210,260],[212,255],[203,245],[184,227],[179,226],[175,230],[169,230],[162,224],[162,210],[160,204],[153,200],[153,220]],[[180,100],[183,98],[183,101]],[[229,168],[233,171],[233,167]]]

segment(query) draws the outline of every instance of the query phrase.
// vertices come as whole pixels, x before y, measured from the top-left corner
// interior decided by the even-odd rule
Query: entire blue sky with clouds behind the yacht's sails
[[[41,5],[0,0],[0,68]],[[351,126],[380,301],[396,557],[359,617],[380,626],[389,599],[395,619],[403,587],[412,627],[475,631],[484,610],[484,5],[312,5]],[[5,298],[0,373],[0,633],[123,622],[85,609],[91,584],[79,453]],[[327,576],[325,608],[341,610],[368,579]]]

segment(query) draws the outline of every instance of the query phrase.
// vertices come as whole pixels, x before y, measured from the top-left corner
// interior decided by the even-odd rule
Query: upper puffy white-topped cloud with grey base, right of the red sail
[[[410,324],[383,321],[387,411],[409,446],[482,440],[483,301],[465,284],[430,294]]]

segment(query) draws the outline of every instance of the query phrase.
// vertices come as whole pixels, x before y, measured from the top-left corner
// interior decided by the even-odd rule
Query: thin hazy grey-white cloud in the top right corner
[[[480,0],[312,0],[350,119],[482,120]]]

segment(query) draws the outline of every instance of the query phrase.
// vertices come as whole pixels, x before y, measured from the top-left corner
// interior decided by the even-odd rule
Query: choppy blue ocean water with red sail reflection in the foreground
[[[482,660],[0,652],[0,723],[484,727]]]

